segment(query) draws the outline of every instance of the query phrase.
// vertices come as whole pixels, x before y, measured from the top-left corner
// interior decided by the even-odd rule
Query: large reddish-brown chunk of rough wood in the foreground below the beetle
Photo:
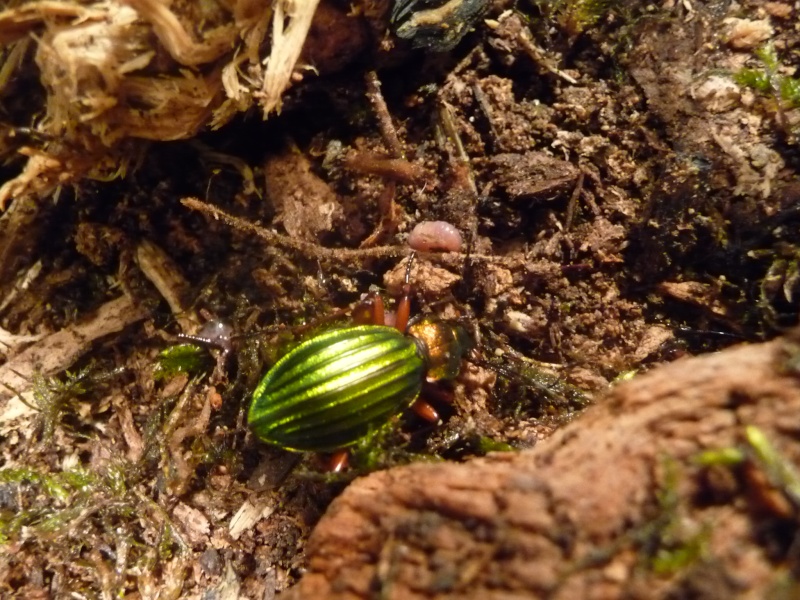
[[[758,502],[765,488],[746,469],[694,462],[742,446],[754,425],[797,463],[800,381],[785,372],[788,348],[670,364],[615,388],[532,451],[365,477],[319,523],[288,598],[791,593],[781,548],[796,535],[794,516]]]

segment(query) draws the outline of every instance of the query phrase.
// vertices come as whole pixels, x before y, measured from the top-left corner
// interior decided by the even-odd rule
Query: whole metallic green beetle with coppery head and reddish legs
[[[260,440],[298,452],[337,452],[408,408],[438,421],[418,400],[424,381],[453,379],[471,346],[458,324],[425,318],[409,323],[409,260],[394,327],[372,298],[371,325],[327,331],[280,359],[253,393],[248,424]],[[340,470],[346,453],[331,466]]]

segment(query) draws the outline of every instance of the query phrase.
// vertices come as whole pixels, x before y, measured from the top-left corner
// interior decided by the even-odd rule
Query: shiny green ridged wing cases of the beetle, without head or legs
[[[334,329],[267,372],[253,393],[248,424],[259,439],[287,450],[344,448],[411,406],[428,367],[424,347],[397,329]]]

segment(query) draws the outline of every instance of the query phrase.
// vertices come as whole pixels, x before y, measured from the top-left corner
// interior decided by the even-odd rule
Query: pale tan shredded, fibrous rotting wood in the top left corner
[[[279,111],[292,81],[315,69],[301,52],[317,4],[63,0],[0,12],[0,92],[34,53],[46,104],[23,125],[50,140],[20,150],[27,166],[0,187],[0,208],[83,177],[123,175],[136,166],[131,144],[189,138],[254,105],[265,118]],[[307,51],[324,62],[314,44]]]

